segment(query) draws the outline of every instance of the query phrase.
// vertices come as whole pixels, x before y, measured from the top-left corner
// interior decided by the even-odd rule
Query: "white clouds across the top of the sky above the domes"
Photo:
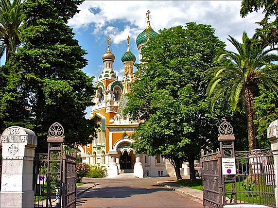
[[[74,30],[93,27],[93,35],[108,36],[114,44],[126,41],[128,35],[136,39],[146,27],[146,12],[151,11],[152,27],[158,30],[187,22],[210,24],[216,29],[216,35],[226,42],[228,35],[241,40],[245,30],[249,36],[255,33],[255,28],[263,15],[252,13],[247,17],[240,16],[241,0],[195,0],[195,1],[91,1],[85,0],[80,6],[79,14],[69,20]],[[120,29],[118,24],[124,24]]]

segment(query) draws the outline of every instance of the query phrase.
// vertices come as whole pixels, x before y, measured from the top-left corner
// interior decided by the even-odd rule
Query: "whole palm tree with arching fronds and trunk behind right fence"
[[[272,68],[271,62],[277,61],[278,56],[269,53],[273,49],[266,49],[267,44],[261,46],[252,44],[253,40],[259,38],[257,34],[250,39],[246,32],[243,32],[243,43],[228,36],[230,37],[228,40],[238,53],[225,50],[219,56],[218,61],[223,57],[227,57],[230,61],[209,72],[207,94],[212,96],[212,109],[224,93],[229,96],[232,110],[235,111],[238,104],[243,103],[247,116],[249,150],[258,149],[257,127],[253,122],[256,120],[254,97],[259,93],[258,86],[261,84],[277,92],[275,78],[278,72]]]

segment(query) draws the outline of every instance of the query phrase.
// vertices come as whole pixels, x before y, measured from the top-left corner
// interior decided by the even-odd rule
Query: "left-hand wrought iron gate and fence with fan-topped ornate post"
[[[63,151],[64,129],[53,123],[49,129],[48,154],[34,159],[34,207],[76,207],[76,151]]]

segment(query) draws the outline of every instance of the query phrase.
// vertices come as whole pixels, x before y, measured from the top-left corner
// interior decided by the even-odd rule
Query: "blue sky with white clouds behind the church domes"
[[[242,18],[241,0],[85,0],[79,14],[69,20],[75,39],[88,54],[88,65],[83,69],[88,76],[98,77],[103,70],[102,55],[107,50],[107,37],[111,37],[111,52],[115,55],[114,71],[123,76],[122,54],[127,49],[127,36],[131,37],[131,51],[139,63],[136,37],[146,28],[146,13],[150,10],[151,26],[158,32],[164,28],[185,25],[187,22],[209,24],[216,36],[226,42],[226,49],[234,51],[227,41],[228,35],[241,42],[243,31],[252,37],[259,27],[255,22],[263,18],[262,10]],[[4,64],[3,57],[1,65]],[[136,69],[135,69],[136,70]],[[95,79],[95,81],[97,81]],[[86,118],[91,107],[87,107]]]

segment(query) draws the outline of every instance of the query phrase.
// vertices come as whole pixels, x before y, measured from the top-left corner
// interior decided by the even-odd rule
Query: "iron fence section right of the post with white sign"
[[[238,204],[276,207],[274,156],[271,149],[235,152]]]

